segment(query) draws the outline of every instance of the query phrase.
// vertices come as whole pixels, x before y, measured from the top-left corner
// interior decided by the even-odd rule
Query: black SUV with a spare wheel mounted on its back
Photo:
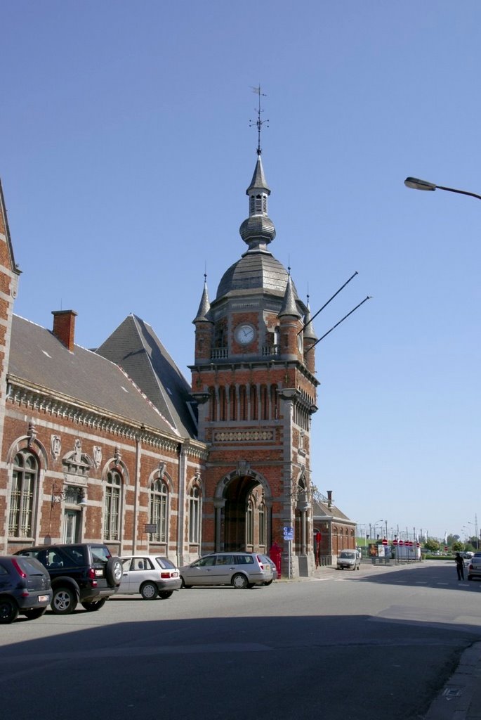
[[[53,590],[50,606],[57,615],[73,613],[78,602],[88,611],[100,610],[122,580],[122,562],[100,543],[39,545],[15,554],[35,557],[47,568]]]

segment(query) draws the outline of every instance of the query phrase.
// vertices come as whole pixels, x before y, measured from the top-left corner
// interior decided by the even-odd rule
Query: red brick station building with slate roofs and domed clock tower
[[[182,565],[277,541],[287,567],[288,526],[293,575],[310,574],[317,338],[270,250],[269,195],[258,149],[247,248],[211,302],[204,282],[189,386],[136,315],[96,351],[75,343],[73,310],[52,312],[51,330],[14,315],[0,186],[0,552],[104,541]]]

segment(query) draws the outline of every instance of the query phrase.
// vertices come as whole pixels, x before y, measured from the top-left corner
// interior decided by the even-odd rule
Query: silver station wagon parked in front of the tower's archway
[[[232,585],[237,590],[270,585],[272,567],[255,552],[216,552],[180,568],[183,588]]]

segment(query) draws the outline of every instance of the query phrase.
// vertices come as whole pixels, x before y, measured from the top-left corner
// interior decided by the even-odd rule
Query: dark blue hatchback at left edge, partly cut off
[[[50,575],[35,559],[0,556],[0,624],[40,618],[52,600]]]

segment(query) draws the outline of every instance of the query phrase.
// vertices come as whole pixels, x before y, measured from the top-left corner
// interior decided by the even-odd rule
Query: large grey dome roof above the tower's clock
[[[283,296],[287,283],[288,271],[271,253],[247,251],[222,276],[216,300],[234,290],[261,290]],[[297,298],[295,287],[294,292]]]

